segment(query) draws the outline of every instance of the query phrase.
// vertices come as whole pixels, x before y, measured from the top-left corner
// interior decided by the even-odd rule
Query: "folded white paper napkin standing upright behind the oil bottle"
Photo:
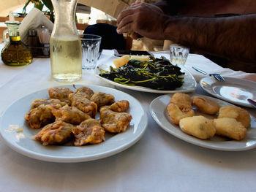
[[[28,15],[22,20],[20,24],[20,39],[28,45],[28,37],[30,29],[37,29],[45,26],[49,30],[53,29],[53,23],[37,8],[31,9]]]

